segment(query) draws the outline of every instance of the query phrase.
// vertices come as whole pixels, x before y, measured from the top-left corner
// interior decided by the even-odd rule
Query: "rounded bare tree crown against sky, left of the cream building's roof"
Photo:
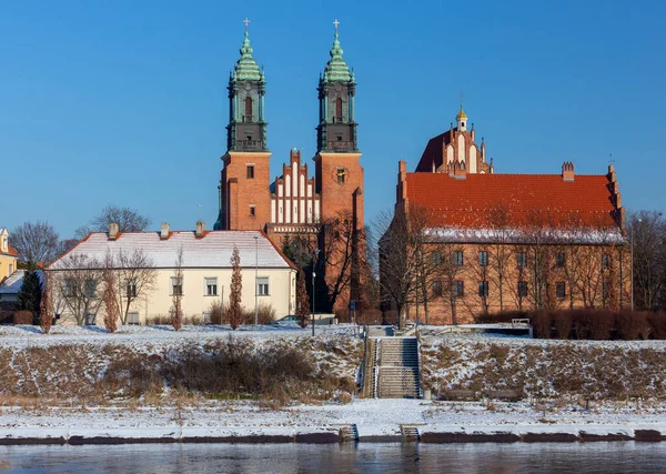
[[[47,221],[23,222],[9,234],[9,243],[19,253],[20,261],[30,265],[56,260],[59,242],[58,232]]]

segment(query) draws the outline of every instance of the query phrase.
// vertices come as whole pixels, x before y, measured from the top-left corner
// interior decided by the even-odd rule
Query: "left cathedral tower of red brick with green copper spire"
[[[252,57],[245,20],[241,58],[229,78],[226,153],[215,230],[256,230],[270,221],[270,157],[264,118],[265,78]]]

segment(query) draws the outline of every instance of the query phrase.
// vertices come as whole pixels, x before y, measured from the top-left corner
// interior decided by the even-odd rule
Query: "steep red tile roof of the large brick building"
[[[526,226],[541,220],[564,224],[575,216],[589,226],[617,226],[606,175],[407,173],[410,205],[433,211],[433,224],[487,228],[497,209],[507,224]],[[571,222],[571,221],[569,221]]]

